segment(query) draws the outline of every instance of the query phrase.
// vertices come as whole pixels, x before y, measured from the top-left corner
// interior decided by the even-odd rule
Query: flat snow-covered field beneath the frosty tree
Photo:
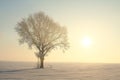
[[[120,80],[120,64],[0,62],[0,80]]]

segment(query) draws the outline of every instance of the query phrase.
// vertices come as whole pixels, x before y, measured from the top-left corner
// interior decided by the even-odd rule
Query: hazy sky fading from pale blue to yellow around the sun
[[[37,60],[14,28],[40,11],[67,27],[70,43],[46,62],[120,63],[120,0],[0,0],[0,61]]]

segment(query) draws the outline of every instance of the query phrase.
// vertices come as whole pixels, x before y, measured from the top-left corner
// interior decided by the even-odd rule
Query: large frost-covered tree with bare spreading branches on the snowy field
[[[38,68],[44,68],[44,57],[48,52],[55,48],[64,51],[69,47],[66,27],[60,26],[43,12],[23,18],[15,29],[21,44],[27,43],[31,49],[33,46],[37,48],[35,55],[38,58]]]

